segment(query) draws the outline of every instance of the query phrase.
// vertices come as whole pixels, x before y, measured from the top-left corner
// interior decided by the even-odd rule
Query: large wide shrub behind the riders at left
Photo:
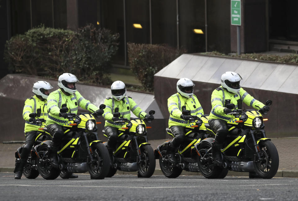
[[[65,72],[86,83],[110,83],[107,66],[119,34],[87,25],[77,32],[43,25],[6,42],[4,59],[12,73],[58,78]]]

